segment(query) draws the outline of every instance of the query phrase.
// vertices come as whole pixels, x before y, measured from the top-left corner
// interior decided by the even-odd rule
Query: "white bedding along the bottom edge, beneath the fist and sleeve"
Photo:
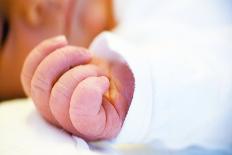
[[[83,140],[46,123],[29,99],[0,104],[0,155],[154,155],[154,152],[156,155],[231,155],[226,150],[207,150],[199,146],[171,150],[159,142],[115,146],[102,143],[96,145],[95,150],[98,152],[90,151]]]

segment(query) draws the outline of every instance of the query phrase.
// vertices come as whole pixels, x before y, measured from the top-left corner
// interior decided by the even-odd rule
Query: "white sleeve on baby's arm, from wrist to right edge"
[[[228,54],[220,51],[215,57],[215,51],[171,47],[154,51],[148,60],[143,58],[146,52],[126,47],[110,33],[101,34],[92,45],[96,55],[108,59],[121,60],[115,52],[122,54],[134,72],[135,94],[118,143],[159,140],[171,148],[231,149]]]

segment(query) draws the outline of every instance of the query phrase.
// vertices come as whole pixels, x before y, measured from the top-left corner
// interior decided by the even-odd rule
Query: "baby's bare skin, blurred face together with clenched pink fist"
[[[23,95],[19,74],[28,51],[49,36],[65,34],[67,39],[48,39],[29,53],[21,73],[24,90],[50,123],[86,140],[115,137],[131,103],[132,73],[124,62],[97,58],[75,46],[87,47],[115,25],[111,3],[3,1],[1,99]]]

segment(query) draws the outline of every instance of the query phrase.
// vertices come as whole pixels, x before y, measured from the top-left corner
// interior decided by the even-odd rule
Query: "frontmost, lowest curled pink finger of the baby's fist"
[[[102,107],[103,94],[109,88],[104,77],[88,77],[74,90],[69,115],[73,126],[87,139],[95,139],[105,127],[106,115]]]

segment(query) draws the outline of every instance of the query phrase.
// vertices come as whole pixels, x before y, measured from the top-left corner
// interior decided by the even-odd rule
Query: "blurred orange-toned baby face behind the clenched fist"
[[[0,100],[23,96],[22,64],[42,40],[64,34],[87,47],[114,25],[110,0],[0,0]]]

